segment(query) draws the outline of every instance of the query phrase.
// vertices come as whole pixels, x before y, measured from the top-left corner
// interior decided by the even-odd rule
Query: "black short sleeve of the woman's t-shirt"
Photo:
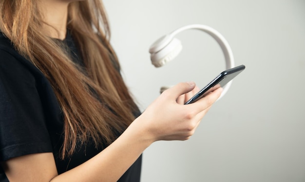
[[[52,152],[37,81],[22,61],[0,49],[0,161]]]

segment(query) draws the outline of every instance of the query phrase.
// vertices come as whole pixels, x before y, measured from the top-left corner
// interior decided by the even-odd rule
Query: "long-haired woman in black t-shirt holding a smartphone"
[[[179,83],[140,115],[109,36],[100,0],[0,1],[0,182],[137,182],[220,96],[184,105],[198,88]]]

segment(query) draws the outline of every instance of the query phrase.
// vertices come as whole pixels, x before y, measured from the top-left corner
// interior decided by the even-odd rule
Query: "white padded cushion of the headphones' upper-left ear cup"
[[[155,67],[163,66],[168,61],[172,61],[176,56],[178,56],[181,50],[181,41],[173,38],[164,48],[151,54],[152,64]]]

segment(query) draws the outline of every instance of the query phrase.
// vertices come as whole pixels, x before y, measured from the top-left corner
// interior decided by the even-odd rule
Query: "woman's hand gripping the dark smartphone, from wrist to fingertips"
[[[187,140],[222,92],[219,88],[199,101],[184,105],[198,90],[193,82],[179,83],[165,90],[134,122],[140,121],[138,124],[152,142]]]

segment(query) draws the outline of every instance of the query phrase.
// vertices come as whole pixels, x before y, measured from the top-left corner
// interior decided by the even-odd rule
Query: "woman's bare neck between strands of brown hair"
[[[64,40],[67,31],[69,3],[64,0],[41,0],[42,31],[49,37]]]

